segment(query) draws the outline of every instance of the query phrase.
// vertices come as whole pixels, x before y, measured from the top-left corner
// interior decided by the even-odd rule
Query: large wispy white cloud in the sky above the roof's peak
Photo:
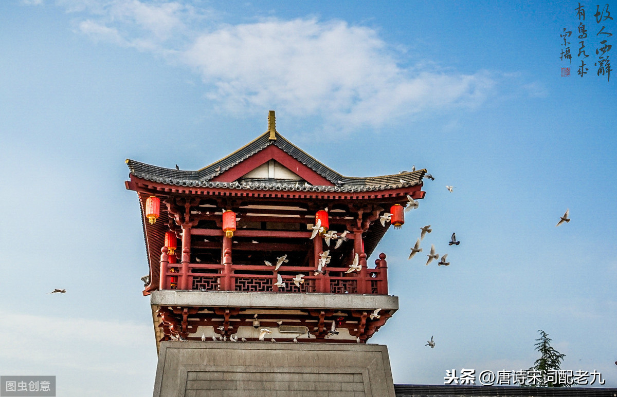
[[[225,112],[280,108],[299,117],[321,115],[339,128],[380,126],[389,118],[453,107],[474,107],[492,91],[487,72],[413,67],[368,27],[341,20],[270,19],[204,27],[205,10],[180,2],[155,4],[61,0],[86,10],[87,35],[164,55],[199,73],[205,97]],[[100,21],[93,15],[100,15]]]

